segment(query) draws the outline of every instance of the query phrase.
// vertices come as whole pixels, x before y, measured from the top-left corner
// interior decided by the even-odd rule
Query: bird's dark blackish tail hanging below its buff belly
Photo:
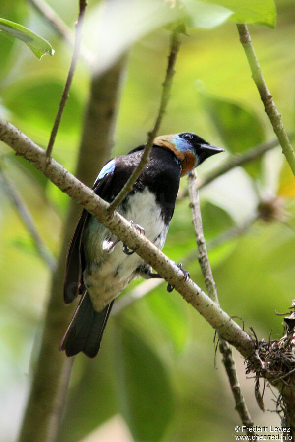
[[[85,291],[59,343],[59,350],[65,350],[67,356],[84,352],[89,358],[94,358],[98,353],[113,302],[102,311],[95,311],[89,294]]]

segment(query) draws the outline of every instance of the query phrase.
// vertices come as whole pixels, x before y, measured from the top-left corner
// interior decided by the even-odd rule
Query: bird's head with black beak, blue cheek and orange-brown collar
[[[181,176],[187,175],[211,155],[224,152],[224,149],[211,146],[192,132],[161,135],[154,139],[154,144],[171,150],[175,154],[182,168]]]

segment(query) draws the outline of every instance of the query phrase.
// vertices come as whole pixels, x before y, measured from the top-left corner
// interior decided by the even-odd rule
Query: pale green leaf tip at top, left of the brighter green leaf
[[[215,28],[224,23],[233,12],[223,6],[200,0],[182,0],[188,14],[188,26],[194,28]]]

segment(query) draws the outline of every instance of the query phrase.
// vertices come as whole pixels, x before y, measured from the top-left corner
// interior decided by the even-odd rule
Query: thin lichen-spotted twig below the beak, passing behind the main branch
[[[216,304],[219,304],[216,284],[213,278],[212,269],[210,266],[208,253],[207,253],[206,241],[203,232],[200,198],[199,198],[199,192],[195,184],[195,178],[196,178],[195,171],[192,171],[188,177],[188,190],[191,200],[190,208],[192,210],[193,224],[196,234],[196,242],[199,251],[199,263],[204,276],[205,284],[208,291],[208,296]],[[248,412],[247,405],[244,396],[242,394],[241,387],[238,382],[237,373],[236,373],[236,364],[233,358],[232,348],[230,344],[222,338],[220,338],[219,348],[223,355],[222,362],[224,364],[226,373],[230,381],[230,386],[236,403],[236,410],[243,424],[247,427],[248,430],[249,427],[253,426],[253,421]],[[247,434],[252,435],[253,432],[248,433],[247,431]]]

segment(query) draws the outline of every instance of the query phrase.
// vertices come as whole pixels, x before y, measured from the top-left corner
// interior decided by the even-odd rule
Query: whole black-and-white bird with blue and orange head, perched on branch
[[[111,203],[120,192],[143,154],[145,144],[110,160],[100,170],[93,191]],[[210,145],[192,132],[154,138],[148,164],[118,205],[117,211],[160,250],[174,213],[180,178],[208,157],[224,149]],[[184,277],[189,274],[182,269]],[[65,331],[59,350],[68,357],[83,352],[94,358],[115,298],[136,277],[161,277],[133,250],[87,210],[83,210],[66,257],[65,304],[81,299]],[[173,287],[168,284],[167,290]]]

